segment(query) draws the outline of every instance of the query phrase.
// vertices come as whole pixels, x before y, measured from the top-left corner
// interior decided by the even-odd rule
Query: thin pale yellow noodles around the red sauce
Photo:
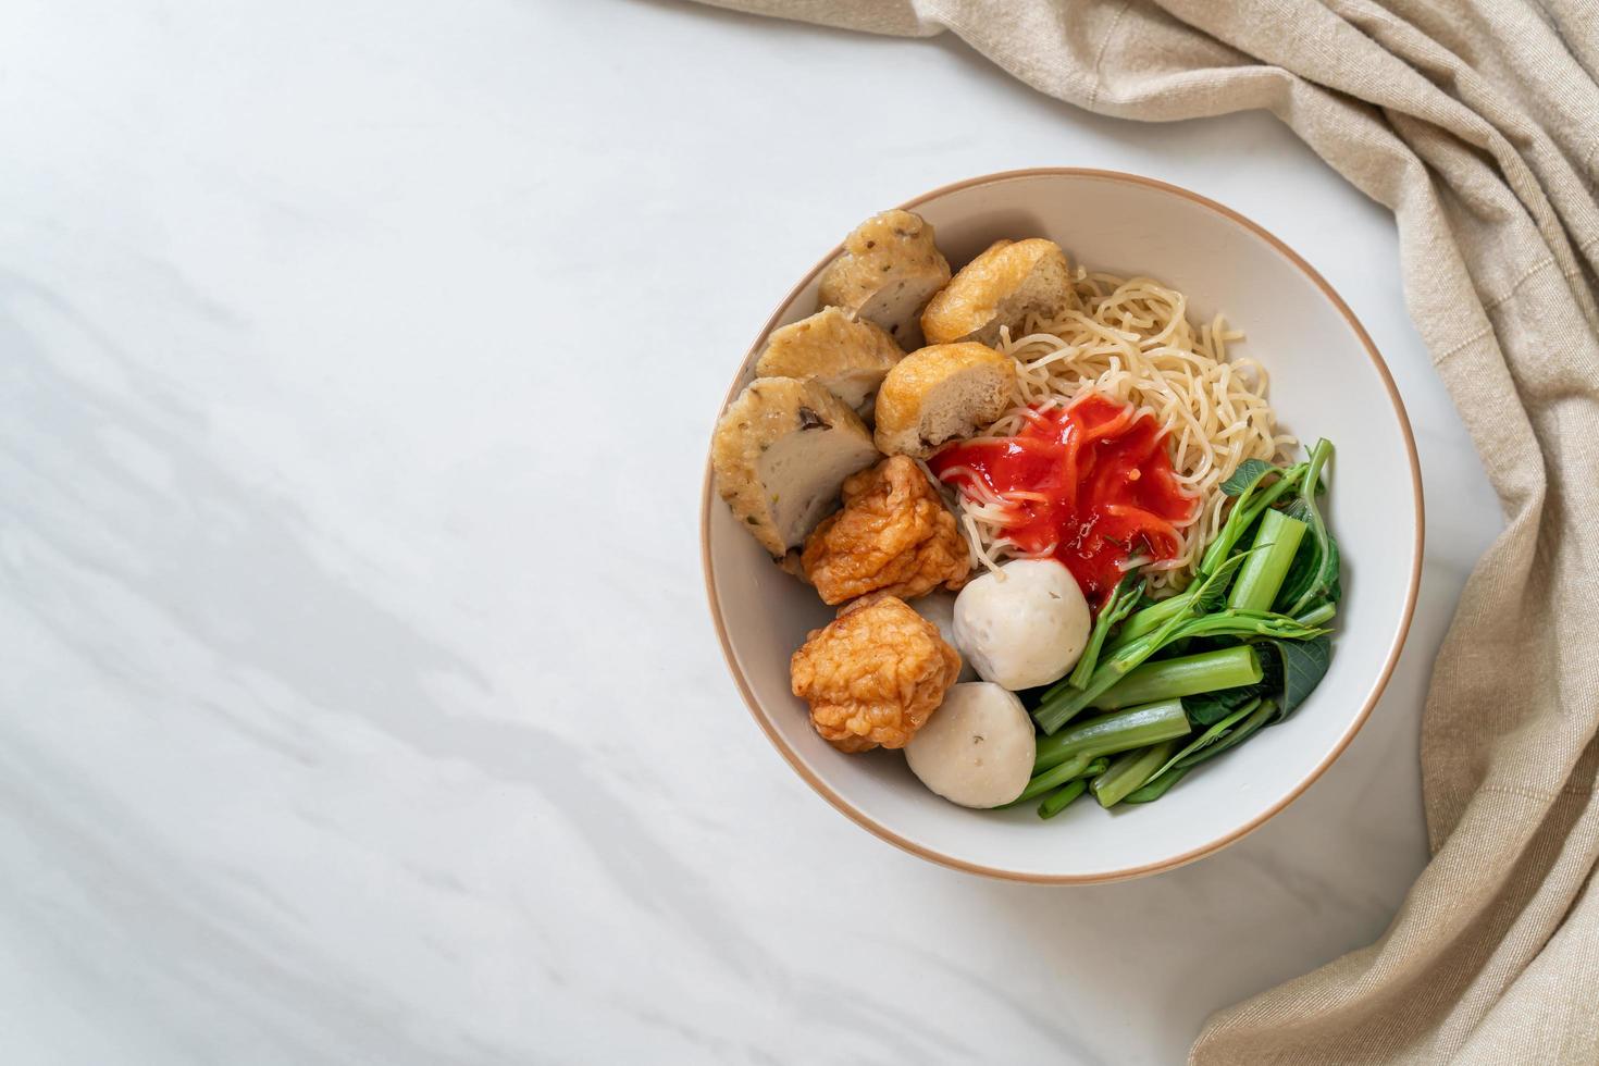
[[[1226,345],[1244,334],[1222,315],[1194,328],[1188,299],[1150,278],[1118,278],[1078,268],[1070,305],[1049,320],[1028,316],[1027,336],[1003,331],[995,345],[1017,363],[1017,404],[979,433],[1015,436],[1035,412],[1063,408],[1087,390],[1129,403],[1166,428],[1172,468],[1194,497],[1196,518],[1177,529],[1175,558],[1127,559],[1143,567],[1156,596],[1180,591],[1193,577],[1204,545],[1222,524],[1226,495],[1218,486],[1247,459],[1268,462],[1297,441],[1276,432],[1266,403],[1266,372],[1249,358],[1230,358]],[[966,467],[945,470],[971,475]],[[956,505],[972,559],[998,569],[1028,553],[1006,539],[1025,518],[1033,494],[995,494],[980,478],[959,479]]]

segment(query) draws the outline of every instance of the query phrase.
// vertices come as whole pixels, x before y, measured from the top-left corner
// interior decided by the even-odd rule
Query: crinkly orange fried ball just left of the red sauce
[[[827,604],[956,590],[972,569],[955,515],[905,455],[844,479],[844,510],[806,537],[800,566]]]

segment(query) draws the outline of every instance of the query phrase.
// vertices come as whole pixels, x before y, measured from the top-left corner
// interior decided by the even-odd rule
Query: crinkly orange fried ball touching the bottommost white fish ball
[[[903,599],[844,611],[788,662],[811,724],[839,751],[903,748],[943,702],[961,655]]]

